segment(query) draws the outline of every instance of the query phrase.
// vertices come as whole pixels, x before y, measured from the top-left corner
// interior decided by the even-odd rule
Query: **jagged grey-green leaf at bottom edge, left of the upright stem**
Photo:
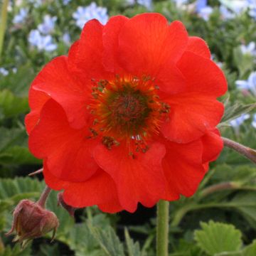
[[[88,225],[90,232],[108,256],[124,256],[124,247],[112,228],[102,230]]]

